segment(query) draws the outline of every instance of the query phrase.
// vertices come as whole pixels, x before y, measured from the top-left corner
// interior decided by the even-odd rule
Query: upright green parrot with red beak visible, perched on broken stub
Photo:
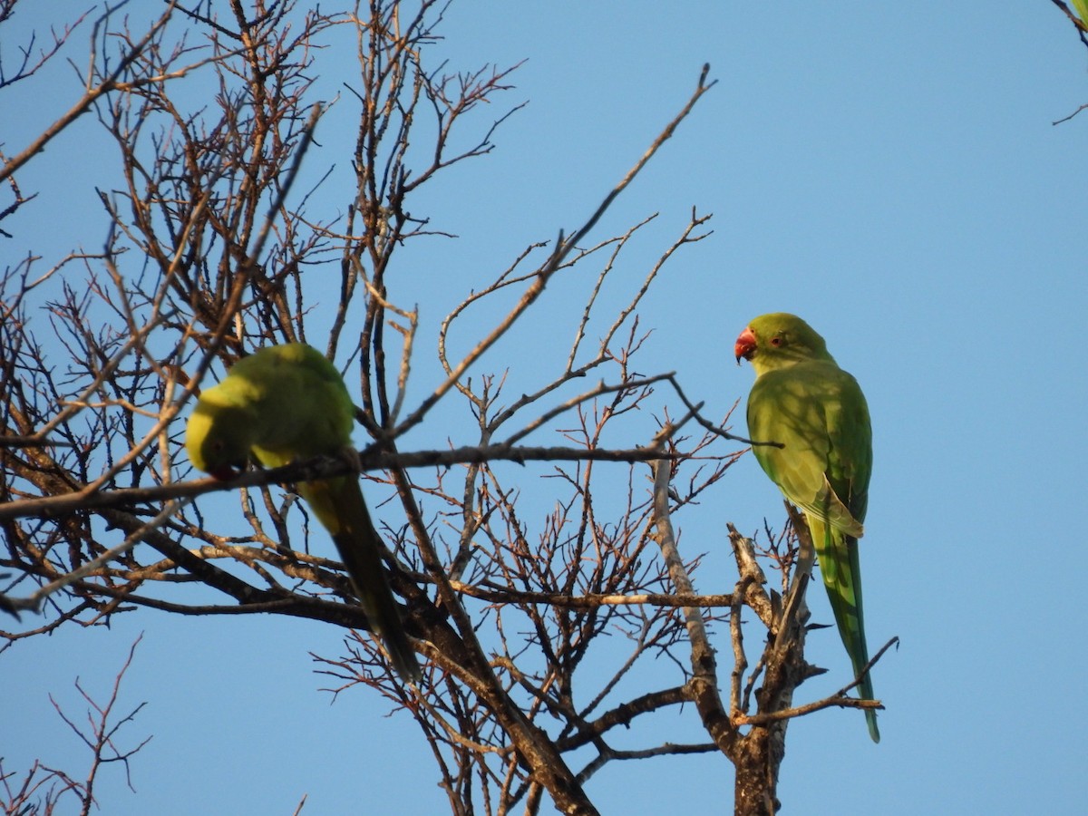
[[[756,460],[786,497],[805,511],[839,634],[855,677],[869,662],[862,615],[862,537],[873,470],[869,409],[857,381],[839,368],[827,344],[794,314],[756,318],[737,338],[737,361],[755,369],[749,435]],[[861,682],[873,700],[873,681]],[[865,712],[880,741],[877,716]]]

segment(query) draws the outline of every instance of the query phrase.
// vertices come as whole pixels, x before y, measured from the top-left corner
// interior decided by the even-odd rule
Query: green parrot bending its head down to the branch
[[[317,456],[354,454],[355,405],[336,368],[305,343],[270,346],[238,360],[197,400],[185,446],[194,466],[232,479],[250,457],[275,468]],[[350,454],[348,454],[350,455]],[[332,534],[374,633],[406,681],[421,678],[405,633],[356,475],[298,484]]]

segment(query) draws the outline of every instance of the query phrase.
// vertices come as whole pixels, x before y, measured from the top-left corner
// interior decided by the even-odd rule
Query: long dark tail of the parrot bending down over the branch
[[[400,621],[393,591],[385,580],[381,539],[374,530],[356,477],[298,485],[322,524],[332,534],[341,560],[351,578],[359,604],[374,634],[382,639],[393,668],[406,682],[419,682],[416,651]]]

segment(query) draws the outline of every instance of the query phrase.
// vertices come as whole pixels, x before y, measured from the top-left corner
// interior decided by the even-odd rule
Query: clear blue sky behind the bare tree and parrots
[[[669,9],[452,7],[437,47],[450,67],[526,59],[505,99],[530,103],[498,132],[493,154],[430,190],[429,214],[460,237],[405,254],[416,265],[404,302],[418,300],[433,326],[523,246],[576,227],[710,63],[718,85],[591,238],[660,213],[626,260],[640,281],[693,206],[714,213],[714,234],[673,259],[641,309],[654,330],[641,370],[676,370],[708,415],[746,395],[752,372],[733,363],[732,343],[766,311],[805,317],[866,392],[876,455],[866,620],[871,647],[901,638],[875,673],[883,741],[873,745],[853,713],[793,724],[783,805],[1080,812],[1088,658],[1079,556],[1065,561],[1083,551],[1076,523],[1088,486],[1088,112],[1051,123],[1088,102],[1088,50],[1049,0]],[[74,44],[77,64],[84,41]],[[349,49],[321,54],[318,66],[330,97],[355,70]],[[49,76],[50,94],[39,87],[17,126],[3,118],[5,152],[76,98],[70,70]],[[308,161],[337,164],[349,185],[336,156],[351,139],[346,101],[321,127]],[[101,242],[92,185],[111,184],[109,164],[75,152],[82,139],[95,144],[94,128],[88,119],[21,178],[40,198],[5,222],[16,231],[3,242],[5,262],[40,249],[44,236],[59,254]],[[342,191],[334,180],[327,207],[341,207]],[[555,287],[534,314],[533,330],[490,367],[523,372],[541,332],[569,322],[569,295]],[[720,581],[706,569],[700,589],[732,585],[727,521],[754,532],[780,516],[776,489],[745,457],[680,520],[685,552],[710,552],[720,565]],[[811,605],[829,620],[821,592]],[[17,644],[0,655],[0,690],[20,701],[0,710],[5,769],[35,756],[82,767],[82,746],[47,694],[82,710],[74,679],[103,695],[140,632],[121,706],[148,705],[123,733],[154,739],[134,761],[135,794],[115,769],[102,778],[104,813],[289,813],[304,793],[304,813],[392,812],[367,809],[391,801],[401,814],[444,811],[407,717],[386,717],[363,692],[333,704],[319,691],[327,682],[309,653],[338,654],[339,633],[272,618],[139,613],[109,630]],[[831,672],[802,687],[799,702],[844,682],[841,646],[826,632],[809,639],[809,657]],[[663,733],[698,739],[692,709],[671,716],[685,722],[663,722]],[[608,766],[590,790],[604,813],[719,812],[731,779],[724,758],[688,757]]]

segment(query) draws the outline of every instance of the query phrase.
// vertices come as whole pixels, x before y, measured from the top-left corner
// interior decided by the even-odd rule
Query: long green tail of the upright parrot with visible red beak
[[[857,539],[843,535],[812,517],[808,518],[808,530],[819,558],[819,571],[831,601],[834,622],[839,626],[842,645],[846,647],[850,663],[854,667],[854,677],[857,677],[869,662],[869,650],[865,643],[865,617],[862,613],[862,568],[857,556]],[[858,689],[862,700],[876,700],[869,675],[862,679]],[[874,742],[880,742],[877,713],[866,709],[865,721],[869,727],[869,737]]]

